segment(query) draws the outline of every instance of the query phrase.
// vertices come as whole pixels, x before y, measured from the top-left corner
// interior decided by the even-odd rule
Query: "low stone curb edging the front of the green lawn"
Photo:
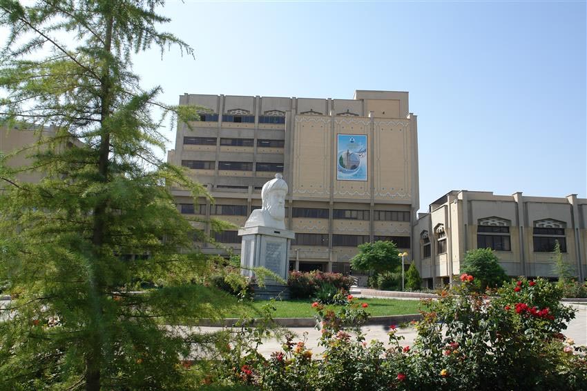
[[[369,317],[365,325],[399,325],[401,323],[408,323],[411,321],[420,321],[421,314],[406,314],[406,315],[389,315],[385,317]],[[213,321],[211,319],[202,319],[198,325],[204,327],[233,327],[240,319],[227,318],[220,321]],[[274,318],[273,321],[282,327],[287,328],[308,328],[316,326],[316,319],[314,318]],[[254,326],[258,321],[253,320],[250,325]]]

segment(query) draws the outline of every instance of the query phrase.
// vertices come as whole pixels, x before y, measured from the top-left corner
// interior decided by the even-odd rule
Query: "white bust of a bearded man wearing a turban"
[[[285,230],[285,195],[287,194],[287,183],[282,179],[281,174],[275,174],[275,179],[267,181],[261,189],[263,206],[261,209],[253,210],[245,227],[269,227]]]

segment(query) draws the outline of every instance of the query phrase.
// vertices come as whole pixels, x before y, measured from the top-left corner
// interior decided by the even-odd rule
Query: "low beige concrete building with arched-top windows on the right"
[[[587,276],[587,199],[453,190],[418,214],[412,254],[428,287],[452,283],[465,252],[492,248],[510,276],[557,277],[552,251]]]

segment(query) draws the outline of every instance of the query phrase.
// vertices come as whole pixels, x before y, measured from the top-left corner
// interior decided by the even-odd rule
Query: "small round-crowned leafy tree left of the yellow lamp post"
[[[401,265],[398,248],[392,241],[376,241],[358,246],[359,253],[351,259],[354,270],[379,274],[392,272]]]

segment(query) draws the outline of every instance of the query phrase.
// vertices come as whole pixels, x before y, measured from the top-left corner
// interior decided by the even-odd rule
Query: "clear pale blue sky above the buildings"
[[[144,86],[352,99],[410,92],[420,209],[450,190],[587,197],[586,1],[169,1]],[[166,135],[175,138],[175,130]],[[172,144],[170,143],[170,146]]]

